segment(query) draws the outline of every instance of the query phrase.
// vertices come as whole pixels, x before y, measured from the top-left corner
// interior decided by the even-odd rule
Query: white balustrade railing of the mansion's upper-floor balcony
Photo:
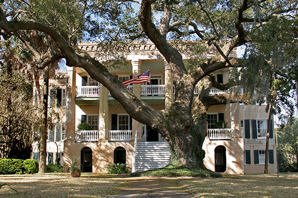
[[[130,85],[127,87],[131,92],[133,92],[133,86]],[[195,86],[194,94],[197,95],[199,92],[198,85]],[[210,95],[215,94],[227,94],[229,90],[220,90],[215,87],[212,87],[210,90]],[[174,87],[175,94],[175,87]],[[109,92],[109,95],[110,92]],[[165,85],[141,85],[141,95],[165,95]],[[77,86],[76,87],[76,96],[77,97],[91,97],[91,96],[99,96],[99,86]]]

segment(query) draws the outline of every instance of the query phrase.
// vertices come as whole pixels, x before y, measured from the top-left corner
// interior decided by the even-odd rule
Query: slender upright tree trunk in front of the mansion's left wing
[[[50,65],[44,69],[44,93],[43,93],[43,106],[42,106],[42,124],[40,130],[40,147],[39,147],[39,171],[38,173],[47,172],[47,122],[48,122],[48,95],[49,95],[49,75]]]

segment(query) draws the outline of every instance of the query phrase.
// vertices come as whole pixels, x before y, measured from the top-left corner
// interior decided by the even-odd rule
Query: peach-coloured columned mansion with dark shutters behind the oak
[[[95,57],[96,43],[78,47]],[[169,108],[174,101],[173,74],[154,44],[130,44],[122,53],[126,64],[109,68],[120,81],[131,79],[150,68],[151,84],[133,84],[127,88],[157,110]],[[179,49],[183,58],[188,49]],[[213,56],[214,51],[206,55]],[[235,56],[235,54],[234,54]],[[100,60],[99,60],[100,61]],[[214,73],[220,83],[228,81],[228,68]],[[43,84],[40,79],[40,84]],[[35,88],[36,89],[36,88]],[[196,86],[194,97],[200,93]],[[212,88],[210,94],[226,94]],[[34,90],[36,93],[36,90]],[[169,145],[158,132],[132,119],[100,83],[79,67],[56,71],[50,79],[49,112],[59,111],[61,119],[48,130],[47,163],[66,164],[78,156],[82,172],[104,173],[110,163],[127,163],[133,172],[161,168],[169,163]],[[208,132],[203,149],[207,169],[227,174],[263,173],[267,122],[270,122],[268,172],[277,172],[277,149],[273,120],[268,121],[266,105],[230,103],[208,109]],[[82,129],[81,123],[89,123]],[[219,123],[221,123],[219,125]],[[80,128],[80,130],[78,129]],[[33,143],[32,158],[38,160],[38,143]],[[65,169],[67,170],[67,168]]]

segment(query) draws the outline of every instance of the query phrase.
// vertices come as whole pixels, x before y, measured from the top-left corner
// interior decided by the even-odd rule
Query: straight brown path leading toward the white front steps
[[[175,179],[131,178],[106,198],[194,198]]]

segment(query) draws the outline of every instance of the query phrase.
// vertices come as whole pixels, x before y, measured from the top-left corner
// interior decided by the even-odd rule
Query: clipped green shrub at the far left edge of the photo
[[[23,174],[24,160],[0,159],[0,174]]]

